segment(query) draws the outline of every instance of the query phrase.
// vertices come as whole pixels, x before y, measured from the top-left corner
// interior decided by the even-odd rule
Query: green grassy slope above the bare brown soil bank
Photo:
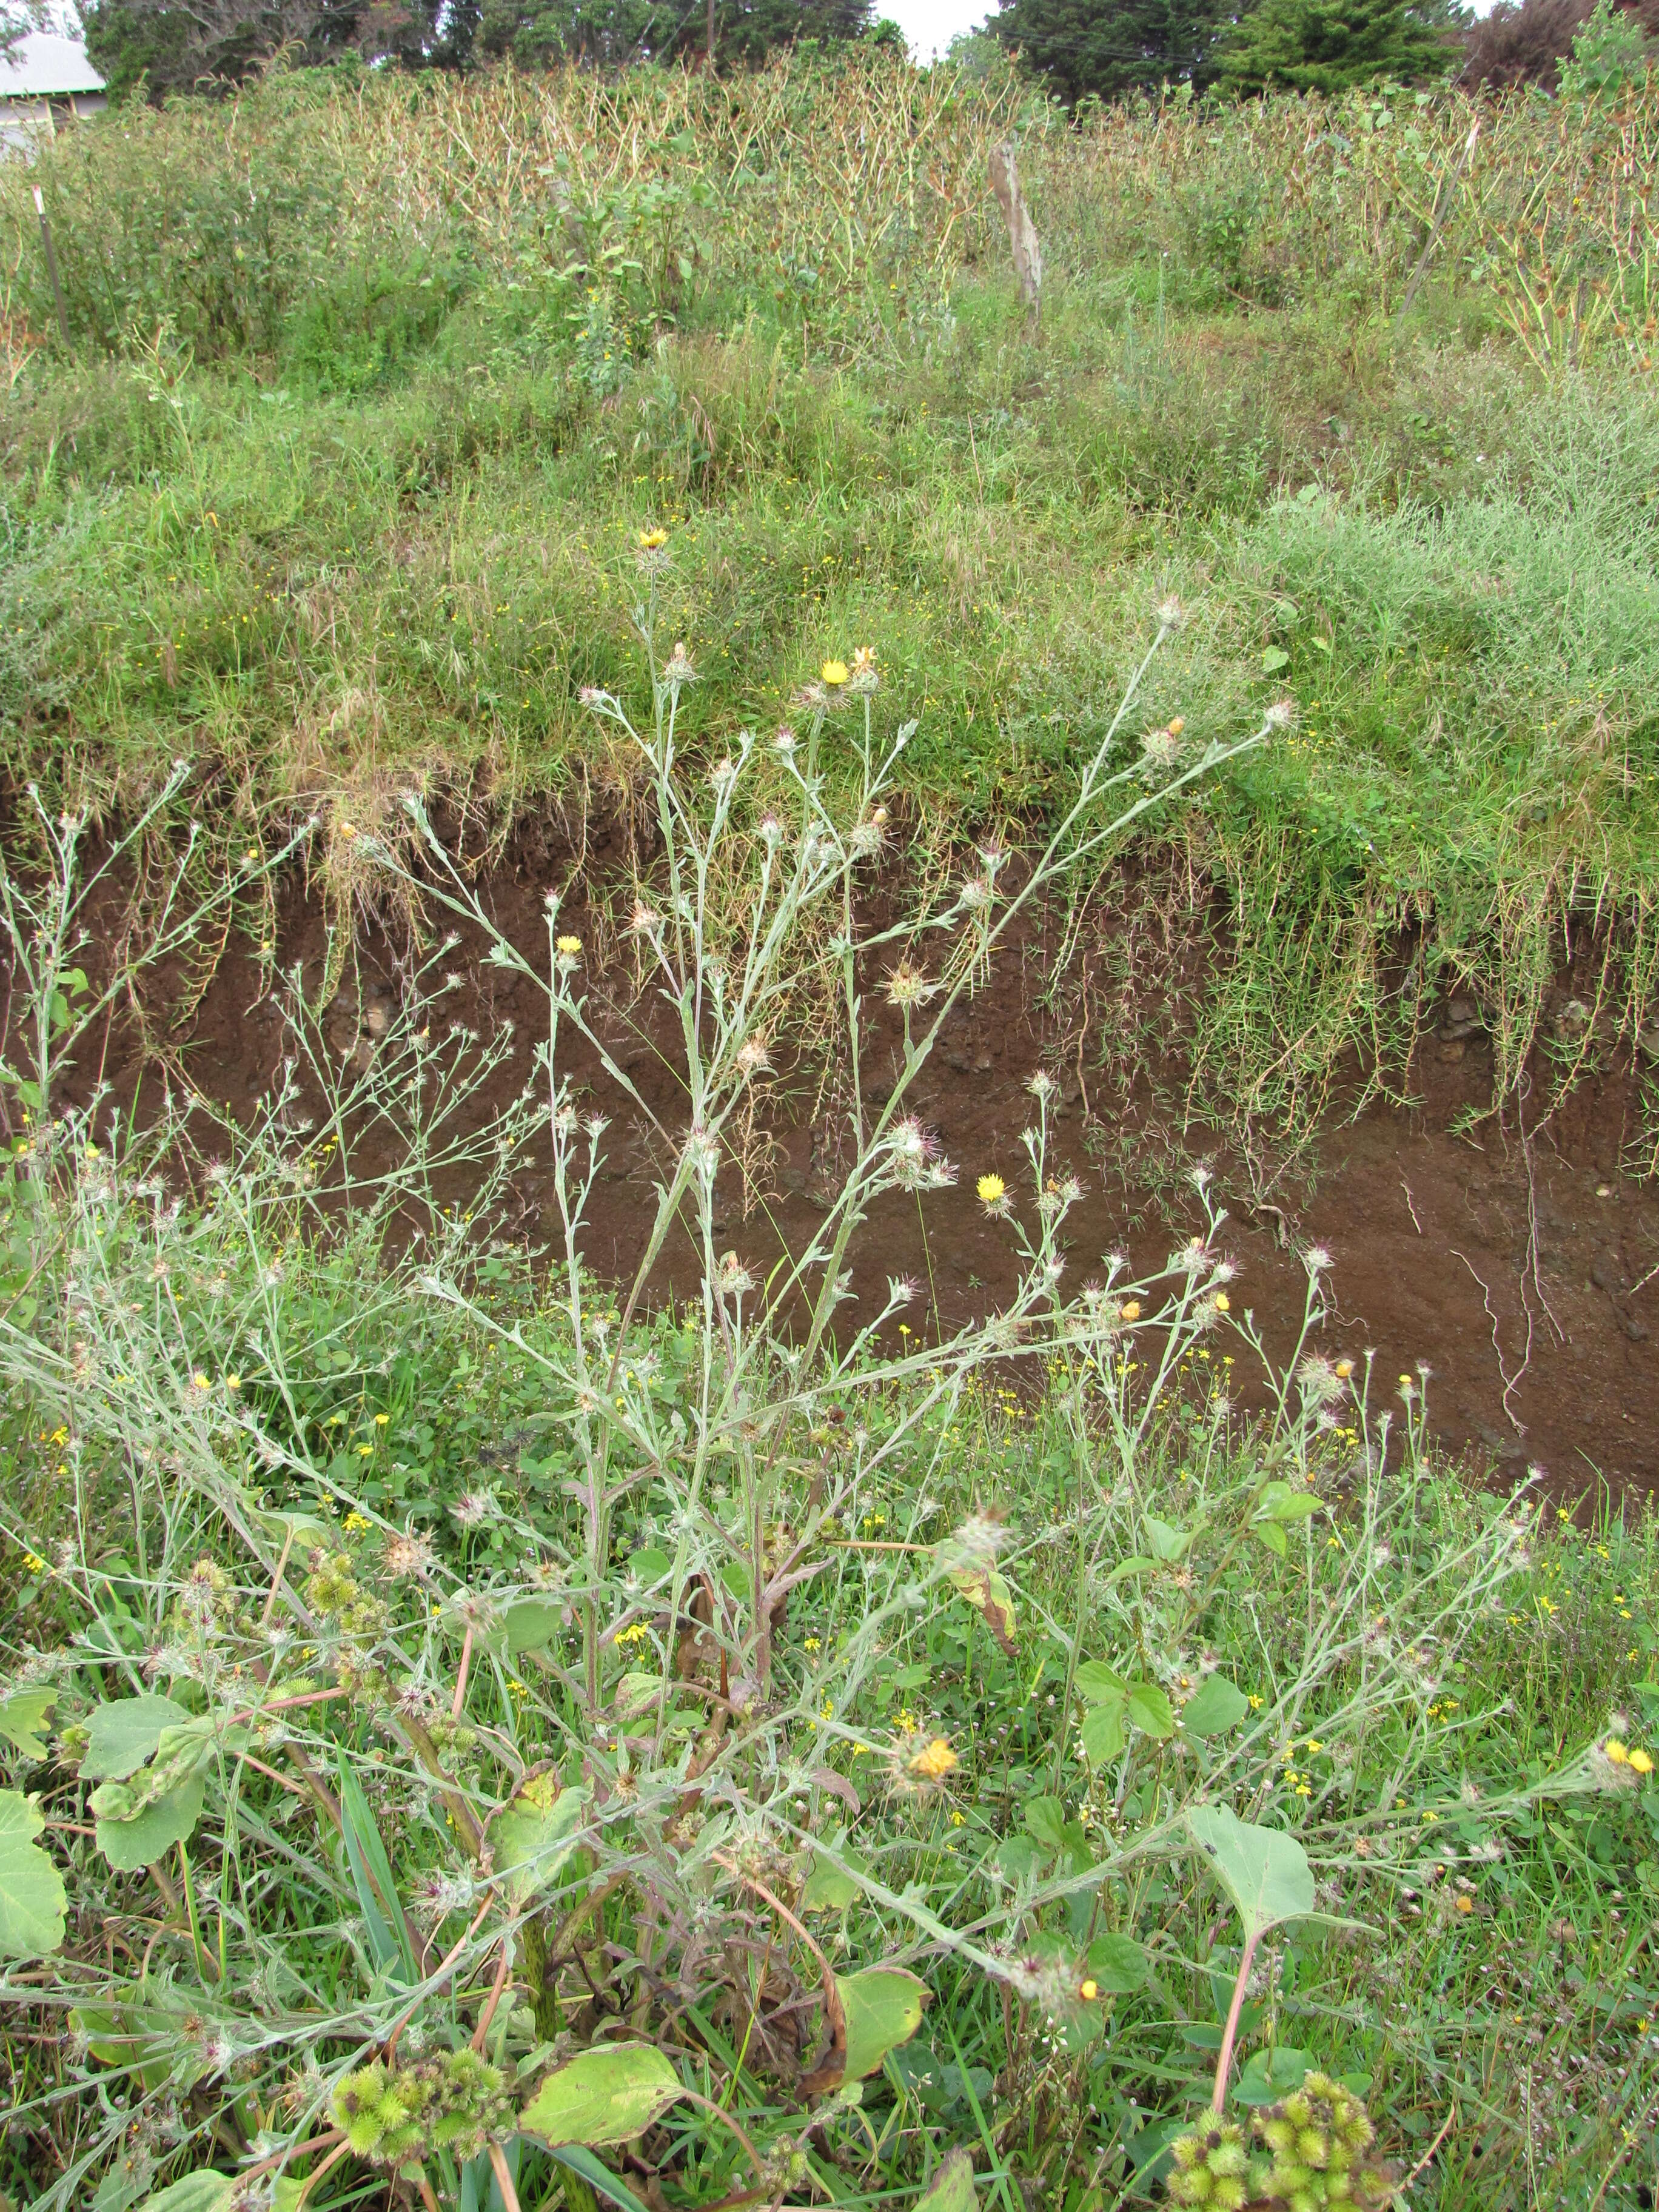
[[[812,206],[836,155],[825,84],[772,77],[768,97],[783,135],[748,197],[721,197],[732,117],[717,133],[688,108],[703,181],[672,197],[637,173],[599,195],[571,232],[577,279],[511,228],[531,212],[518,186],[469,248],[429,221],[398,259],[367,175],[392,131],[405,166],[449,142],[418,111],[367,108],[356,197],[349,166],[347,197],[316,210],[270,188],[265,230],[237,246],[263,254],[263,305],[204,323],[195,367],[166,325],[97,358],[104,294],[69,230],[82,365],[27,363],[0,478],[4,772],[122,814],[184,750],[226,841],[296,801],[361,825],[409,779],[498,823],[549,794],[604,807],[617,770],[575,695],[617,677],[633,533],[664,520],[695,739],[770,726],[825,655],[867,644],[891,717],[920,719],[905,781],[929,843],[987,821],[1020,834],[1175,588],[1194,619],[1148,708],[1208,737],[1290,688],[1303,717],[1146,832],[1214,922],[1225,982],[1192,1060],[1232,1082],[1210,1110],[1307,1130],[1345,1048],[1387,1075],[1405,933],[1429,984],[1493,1006],[1500,1093],[1586,927],[1610,984],[1588,1057],[1628,1037],[1652,991],[1659,852],[1648,376],[1613,347],[1542,385],[1502,285],[1449,281],[1451,239],[1411,314],[1387,310],[1420,239],[1398,181],[1427,159],[1420,124],[1367,124],[1365,190],[1396,177],[1400,195],[1371,237],[1358,173],[1336,168],[1312,212],[1285,199],[1294,102],[1212,122],[1181,168],[1159,166],[1164,124],[1141,142],[1108,117],[1091,142],[1029,113],[1051,263],[1033,338],[971,146],[951,142],[933,210],[869,221],[869,259],[838,259],[836,186]],[[918,128],[953,128],[927,97]],[[964,97],[971,128],[987,97]],[[858,100],[887,100],[887,80]],[[874,142],[885,111],[867,113]],[[254,117],[272,173],[345,161],[327,97],[279,86]],[[626,122],[591,117],[595,166]],[[1502,131],[1522,126],[1517,108]],[[1573,119],[1551,128],[1562,159]],[[186,111],[150,117],[80,179],[71,148],[55,190],[66,210],[95,177],[195,192],[188,281],[206,285],[234,234],[212,195],[234,179],[192,133]],[[341,265],[319,261],[327,208]],[[133,226],[142,241],[139,210]],[[796,263],[821,301],[763,281]],[[128,285],[133,314],[153,312],[144,268],[135,248],[100,279]]]

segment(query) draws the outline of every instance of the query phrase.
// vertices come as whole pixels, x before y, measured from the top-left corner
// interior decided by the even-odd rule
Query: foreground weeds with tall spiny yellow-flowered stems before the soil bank
[[[1203,1177],[1157,1274],[1068,1254],[1046,1068],[1011,1179],[905,1110],[1046,876],[1287,717],[1148,728],[1161,604],[1037,860],[987,841],[856,942],[911,739],[874,661],[688,757],[657,531],[635,571],[644,703],[584,701],[657,825],[626,991],[557,883],[526,962],[418,794],[409,838],[361,832],[365,878],[542,987],[535,1068],[482,1124],[507,1040],[445,1020],[442,956],[345,1071],[294,987],[252,1126],[188,1091],[148,1128],[73,1104],[106,989],[82,825],[7,876],[20,2192],[1093,2212],[1595,2174],[1635,2203],[1650,1526],[1438,1469],[1427,1369],[1340,1343],[1325,1252],[1270,1360]],[[907,1035],[880,1099],[874,989]],[[650,1119],[606,1002],[666,1015],[684,1086],[630,1285],[584,1250],[606,1106]],[[845,1170],[761,1274],[717,1190],[803,1009]],[[533,1146],[538,1256],[502,1230]],[[940,1336],[918,1283],[852,1301],[872,1201],[958,1172],[1020,1254],[1011,1303]],[[695,1290],[657,1303],[670,1243]]]

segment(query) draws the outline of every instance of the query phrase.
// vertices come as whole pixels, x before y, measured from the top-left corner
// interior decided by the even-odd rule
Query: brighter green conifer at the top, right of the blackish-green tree
[[[1230,93],[1345,93],[1420,84],[1462,66],[1464,11],[1447,0],[1256,0],[1217,55]]]

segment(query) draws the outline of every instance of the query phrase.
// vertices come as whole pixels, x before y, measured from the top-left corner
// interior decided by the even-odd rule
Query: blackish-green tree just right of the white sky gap
[[[1214,77],[1230,0],[1006,0],[987,29],[1064,102]]]

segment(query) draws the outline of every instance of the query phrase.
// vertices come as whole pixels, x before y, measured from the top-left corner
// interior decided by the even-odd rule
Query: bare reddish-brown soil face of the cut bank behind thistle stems
[[[546,845],[533,832],[522,834],[515,860],[487,883],[500,927],[531,958],[544,958],[546,949],[542,885],[560,876],[549,867],[551,843],[551,834]],[[604,858],[599,841],[588,865],[602,869]],[[597,922],[584,925],[580,916],[571,927],[597,936]],[[480,964],[478,953],[467,940],[456,949],[465,989],[442,1002],[445,1018],[478,1026],[511,1018],[518,1044],[500,1088],[518,1088],[544,1006],[529,984]],[[294,887],[281,914],[279,960],[303,962],[314,989],[323,958],[323,916]],[[327,1035],[343,1057],[356,1053],[367,1062],[383,1024],[378,1009],[400,991],[398,958],[392,938],[369,925],[356,960],[358,982],[341,993]],[[991,989],[958,1006],[911,1093],[914,1110],[958,1164],[960,1186],[925,1201],[925,1232],[916,1199],[883,1199],[854,1245],[854,1292],[880,1298],[889,1274],[931,1285],[909,1316],[918,1327],[931,1327],[936,1310],[938,1325],[951,1329],[1013,1283],[1009,1234],[984,1217],[973,1181],[995,1170],[1020,1190],[1020,1130],[1033,1110],[1024,1084],[1040,1064],[1053,1064],[1046,1055],[1055,1035],[1026,1000],[1020,960],[1015,947]],[[876,1029],[867,1068],[880,1086],[880,1071],[896,1066],[898,1018],[880,1002],[878,984],[872,975],[867,1009]],[[670,1130],[684,1124],[672,1060],[661,1051],[670,1040],[666,1031],[653,1035],[661,1022],[650,1004],[613,1006],[599,1020],[661,1121]],[[1225,1144],[1206,1141],[1203,1133],[1179,1139],[1168,1133],[1155,1071],[1110,1088],[1108,1077],[1091,1075],[1099,1040],[1086,1035],[1077,1055],[1073,1035],[1057,1170],[1075,1168],[1088,1192],[1066,1223],[1075,1279],[1086,1279],[1115,1245],[1126,1245],[1139,1265],[1159,1265],[1199,1219],[1179,1170],[1208,1157],[1230,1212],[1225,1243],[1241,1270],[1234,1310],[1254,1310],[1272,1352],[1283,1354],[1301,1323],[1298,1254],[1323,1243],[1334,1256],[1329,1283],[1338,1307],[1325,1349],[1374,1349],[1380,1396],[1391,1396],[1396,1378],[1427,1360],[1431,1425],[1471,1467],[1504,1484],[1537,1467],[1568,1498],[1597,1484],[1615,1495],[1659,1489],[1659,1347],[1650,1334],[1659,1329],[1659,1192],[1619,1172],[1637,1133],[1635,1086],[1628,1073],[1590,1075],[1526,1139],[1513,1106],[1502,1121],[1486,1117],[1473,1135],[1451,1135],[1464,1110],[1491,1095],[1491,1048],[1480,1026],[1453,1026],[1464,1035],[1429,1037],[1411,1068],[1420,1099],[1413,1110],[1369,1104],[1354,1119],[1329,1121],[1307,1157],[1312,1186],[1298,1179],[1294,1203],[1281,1181],[1272,1206],[1252,1206],[1250,1179]],[[239,1115],[272,1082],[281,1042],[279,1011],[261,998],[261,969],[234,947],[195,1020],[173,1037],[190,1084]],[[133,1040],[113,1033],[102,1055],[82,1055],[82,1068],[100,1057],[115,1093],[131,1097],[139,1073]],[[602,1274],[624,1279],[644,1250],[661,1164],[650,1133],[633,1126],[626,1102],[608,1095],[597,1062],[588,1055],[568,1064],[615,1117],[586,1256]],[[155,1071],[144,1075],[148,1095],[155,1082]],[[757,1272],[781,1245],[801,1250],[807,1241],[818,1219],[818,1179],[834,1168],[832,1117],[812,1121],[816,1086],[803,1077],[792,1088],[792,1099],[783,1088],[776,1095],[763,1133],[770,1164],[759,1194],[748,1190],[748,1212],[743,1177],[734,1168],[721,1177],[721,1241]],[[520,1225],[531,1241],[546,1234],[544,1186],[542,1170],[522,1179]],[[690,1290],[695,1279],[695,1254],[681,1241],[679,1252],[666,1254],[653,1290]],[[1232,1349],[1243,1354],[1241,1345]]]

